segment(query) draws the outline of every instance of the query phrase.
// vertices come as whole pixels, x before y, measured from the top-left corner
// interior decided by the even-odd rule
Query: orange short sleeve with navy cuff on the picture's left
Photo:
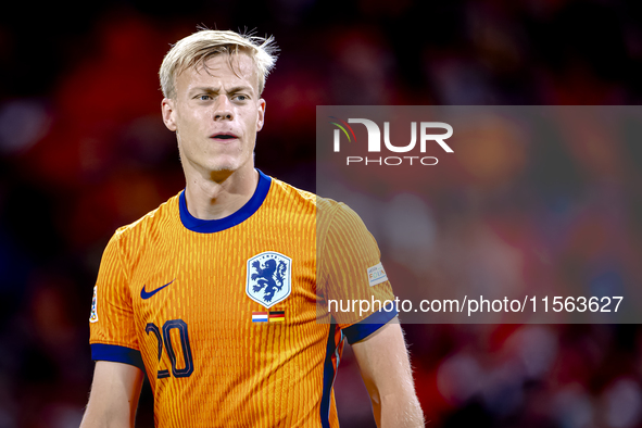
[[[89,327],[92,360],[126,363],[143,369],[117,232],[102,255]]]

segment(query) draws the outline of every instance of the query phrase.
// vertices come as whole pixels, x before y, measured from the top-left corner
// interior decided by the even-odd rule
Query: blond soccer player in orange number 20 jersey
[[[156,427],[338,427],[344,339],[377,425],[424,426],[394,309],[328,305],[393,299],[374,238],[344,204],[254,168],[274,49],[200,30],[166,54],[162,115],[186,187],[104,251],[83,428],[133,427],[144,373]]]

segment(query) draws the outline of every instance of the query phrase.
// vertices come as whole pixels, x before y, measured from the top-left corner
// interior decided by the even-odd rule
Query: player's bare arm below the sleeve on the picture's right
[[[424,427],[401,326],[388,323],[353,343],[352,350],[370,394],[377,426]]]

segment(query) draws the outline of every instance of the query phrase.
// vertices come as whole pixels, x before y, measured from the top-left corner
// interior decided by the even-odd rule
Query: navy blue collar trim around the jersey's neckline
[[[250,218],[252,214],[254,214],[261,207],[265,197],[267,197],[270,184],[272,178],[259,171],[259,185],[256,186],[256,190],[254,191],[254,194],[252,194],[252,198],[246,202],[246,204],[241,206],[239,211],[219,219],[201,219],[191,215],[189,211],[187,211],[187,202],[185,200],[184,189],[178,197],[180,222],[191,231],[197,231],[200,234],[213,234],[215,231],[229,229],[230,227],[239,225]]]

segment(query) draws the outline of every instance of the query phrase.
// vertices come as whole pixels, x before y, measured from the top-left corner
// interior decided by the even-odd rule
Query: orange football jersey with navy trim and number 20
[[[394,299],[377,266],[352,210],[261,172],[251,200],[222,219],[191,216],[181,191],[110,240],[92,358],[146,370],[160,428],[338,427],[344,338],[396,312],[355,318],[328,300]]]

